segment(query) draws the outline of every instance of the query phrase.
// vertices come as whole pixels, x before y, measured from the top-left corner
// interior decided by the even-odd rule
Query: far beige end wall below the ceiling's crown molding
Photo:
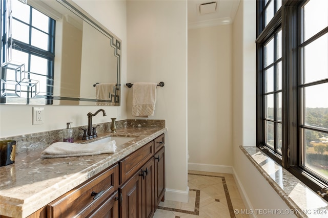
[[[188,148],[189,169],[232,166],[231,25],[188,30]]]

